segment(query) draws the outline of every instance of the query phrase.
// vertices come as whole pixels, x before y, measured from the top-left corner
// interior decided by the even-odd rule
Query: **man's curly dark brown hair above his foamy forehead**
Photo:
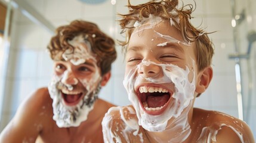
[[[69,25],[60,26],[56,35],[51,38],[47,49],[53,60],[63,60],[62,55],[67,49],[74,52],[75,47],[69,44],[78,35],[83,35],[85,41],[90,42],[91,50],[97,55],[97,65],[101,69],[101,75],[111,70],[111,64],[116,60],[115,42],[112,38],[101,32],[94,23],[82,20],[72,21]],[[61,53],[61,54],[59,54]]]

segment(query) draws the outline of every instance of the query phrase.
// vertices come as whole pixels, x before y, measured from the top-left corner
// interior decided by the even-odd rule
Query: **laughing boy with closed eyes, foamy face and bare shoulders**
[[[190,24],[192,5],[178,0],[131,5],[121,15],[126,32],[124,86],[132,105],[103,118],[105,142],[254,142],[245,122],[193,108],[212,79],[212,43]]]

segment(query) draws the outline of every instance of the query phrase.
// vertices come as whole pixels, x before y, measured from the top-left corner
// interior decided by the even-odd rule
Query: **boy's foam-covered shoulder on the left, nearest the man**
[[[132,105],[109,108],[101,124],[105,142],[147,142]]]

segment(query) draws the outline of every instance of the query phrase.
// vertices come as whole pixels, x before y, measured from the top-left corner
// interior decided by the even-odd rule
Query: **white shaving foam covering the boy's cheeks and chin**
[[[137,70],[142,65],[149,66],[149,64],[155,64],[162,67],[164,76],[161,78],[145,78],[147,82],[154,84],[170,83],[174,84],[175,91],[171,94],[171,99],[169,104],[165,104],[167,107],[162,114],[152,115],[147,114],[140,105],[140,100],[134,91],[134,87],[144,80],[144,77],[137,75]],[[156,64],[151,61],[141,61],[137,68],[129,71],[129,74],[124,79],[124,86],[128,92],[129,101],[131,101],[133,107],[135,108],[138,125],[143,126],[144,129],[151,132],[162,132],[164,130],[176,130],[181,129],[183,132],[183,137],[177,134],[181,138],[189,136],[191,129],[187,121],[187,114],[192,107],[193,95],[195,92],[195,72],[193,72],[193,80],[189,82],[188,79],[189,68],[181,69],[173,64]],[[164,106],[165,106],[164,105]],[[181,114],[182,113],[182,114]],[[171,119],[173,117],[173,119]],[[170,120],[171,119],[171,120]]]

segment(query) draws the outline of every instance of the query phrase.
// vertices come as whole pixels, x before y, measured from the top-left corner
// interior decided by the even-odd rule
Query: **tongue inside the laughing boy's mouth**
[[[149,96],[147,97],[147,105],[151,108],[161,107],[169,100],[169,95],[164,94],[161,96]]]

